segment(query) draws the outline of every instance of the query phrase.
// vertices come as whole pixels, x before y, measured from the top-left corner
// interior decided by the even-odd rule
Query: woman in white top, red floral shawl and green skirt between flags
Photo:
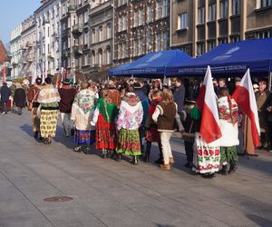
[[[237,169],[238,154],[238,104],[229,96],[228,88],[219,89],[220,163],[222,174],[233,173]],[[229,171],[228,171],[229,164]]]

